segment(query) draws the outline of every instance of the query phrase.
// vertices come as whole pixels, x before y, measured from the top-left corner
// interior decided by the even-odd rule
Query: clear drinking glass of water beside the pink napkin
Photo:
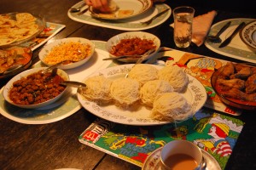
[[[195,9],[187,6],[173,9],[174,42],[178,48],[188,48],[192,40]]]

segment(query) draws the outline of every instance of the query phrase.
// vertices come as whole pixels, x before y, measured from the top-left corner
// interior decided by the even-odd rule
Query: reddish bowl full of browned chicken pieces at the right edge
[[[256,109],[256,67],[228,62],[212,74],[212,88],[226,105]]]

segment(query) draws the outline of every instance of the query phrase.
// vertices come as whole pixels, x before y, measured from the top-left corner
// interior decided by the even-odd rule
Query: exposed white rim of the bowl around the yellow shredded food
[[[73,69],[73,68],[78,67],[80,65],[84,65],[84,63],[86,63],[95,52],[95,44],[93,42],[91,42],[90,40],[82,38],[82,37],[67,37],[67,38],[64,38],[64,39],[56,40],[55,42],[50,42],[49,44],[44,46],[44,48],[42,48],[42,50],[38,54],[39,59],[45,65],[50,66],[48,63],[46,63],[44,61],[44,57],[49,54],[49,52],[52,50],[52,48],[55,48],[56,46],[59,46],[62,43],[65,43],[65,42],[66,43],[67,42],[80,42],[82,44],[89,44],[91,53],[90,53],[90,55],[88,55],[87,57],[85,57],[84,59],[82,59],[80,61],[73,62],[73,63],[67,64],[67,65],[60,65],[60,66],[58,66],[59,69],[67,70],[67,69]]]

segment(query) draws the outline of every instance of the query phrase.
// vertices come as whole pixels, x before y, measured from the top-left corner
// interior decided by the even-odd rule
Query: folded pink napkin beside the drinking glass
[[[192,42],[194,42],[198,47],[205,42],[208,31],[212,26],[212,20],[216,16],[217,12],[212,10],[207,14],[201,14],[193,19],[192,26]],[[170,26],[174,27],[172,23]]]

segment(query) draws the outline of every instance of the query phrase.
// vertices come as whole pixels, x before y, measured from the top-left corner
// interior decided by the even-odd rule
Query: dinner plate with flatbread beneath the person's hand
[[[118,10],[112,14],[112,17],[96,13],[91,6],[89,8],[90,14],[98,19],[123,20],[137,16],[138,14],[143,14],[151,8],[153,4],[151,0],[114,0],[114,2],[117,4]],[[118,13],[120,10],[132,10],[133,14],[119,16]]]

